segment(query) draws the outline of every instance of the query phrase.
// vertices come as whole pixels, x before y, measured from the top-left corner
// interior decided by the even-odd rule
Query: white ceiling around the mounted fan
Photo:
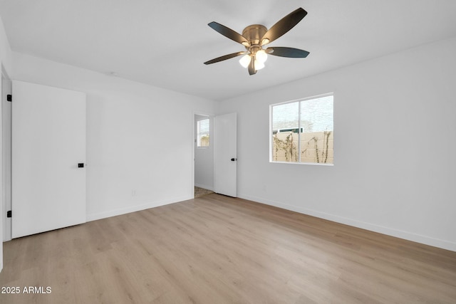
[[[203,64],[244,50],[207,23],[242,33],[298,7],[308,15],[270,46],[307,58],[269,56],[252,76],[239,58]],[[455,0],[0,0],[0,16],[13,51],[212,100],[456,36]]]

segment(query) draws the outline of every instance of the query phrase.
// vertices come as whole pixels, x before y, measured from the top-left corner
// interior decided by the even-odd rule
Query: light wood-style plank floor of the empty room
[[[4,243],[0,303],[456,303],[456,252],[218,194]]]

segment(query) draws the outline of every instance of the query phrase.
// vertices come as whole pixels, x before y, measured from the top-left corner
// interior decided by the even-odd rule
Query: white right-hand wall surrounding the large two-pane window
[[[224,100],[239,196],[456,251],[455,54],[452,38]],[[330,92],[335,165],[269,163],[269,105]]]

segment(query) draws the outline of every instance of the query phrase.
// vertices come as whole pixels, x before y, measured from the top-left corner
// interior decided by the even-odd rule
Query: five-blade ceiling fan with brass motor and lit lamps
[[[286,48],[283,46],[263,48],[266,44],[271,43],[284,35],[287,31],[291,30],[291,28],[296,26],[296,24],[298,24],[306,15],[307,12],[304,11],[304,9],[299,8],[284,16],[284,18],[280,19],[274,26],[269,28],[269,30],[266,26],[262,26],[261,24],[252,24],[251,26],[244,28],[242,35],[233,31],[231,28],[227,28],[227,26],[223,26],[222,24],[213,21],[207,25],[214,28],[215,31],[221,33],[223,36],[230,38],[237,43],[241,43],[245,46],[247,51],[217,57],[210,61],[206,61],[204,64],[217,63],[219,61],[225,61],[230,58],[244,55],[239,63],[241,63],[244,68],[249,69],[249,75],[254,75],[257,73],[257,70],[264,68],[264,62],[266,61],[268,54],[289,58],[306,58],[309,55],[309,52],[300,50],[299,48]]]

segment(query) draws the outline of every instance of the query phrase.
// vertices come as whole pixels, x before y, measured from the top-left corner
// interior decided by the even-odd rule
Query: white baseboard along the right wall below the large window
[[[266,205],[270,205],[270,206],[276,206],[276,207],[279,207],[281,209],[286,209],[286,210],[290,210],[290,211],[296,211],[296,212],[299,212],[301,214],[307,214],[307,215],[310,215],[310,216],[315,216],[315,217],[318,217],[320,219],[327,219],[328,221],[335,221],[336,223],[346,224],[348,226],[353,226],[353,227],[357,227],[357,228],[361,228],[361,229],[366,229],[366,230],[369,230],[369,231],[378,232],[379,234],[386,234],[388,236],[395,236],[397,238],[405,239],[405,240],[408,240],[408,241],[414,241],[414,242],[423,243],[423,244],[429,245],[429,246],[443,248],[443,249],[447,249],[447,250],[450,250],[450,251],[456,251],[456,243],[451,242],[451,241],[434,239],[434,238],[431,238],[429,236],[423,236],[423,235],[420,235],[420,234],[413,234],[413,233],[408,232],[408,231],[402,231],[402,230],[398,230],[398,229],[391,229],[391,228],[388,228],[388,227],[385,227],[385,226],[379,226],[379,225],[375,225],[375,224],[370,224],[370,223],[366,223],[366,222],[363,222],[363,221],[356,221],[356,220],[353,220],[353,219],[348,219],[348,218],[343,217],[343,216],[336,216],[336,215],[333,215],[333,214],[327,214],[327,213],[320,212],[320,211],[315,211],[315,210],[311,210],[311,209],[301,208],[301,207],[297,207],[297,206],[291,206],[291,205],[279,203],[277,201],[271,201],[269,199],[262,199],[262,198],[255,197],[255,196],[239,194],[238,197],[240,197],[242,199],[248,199],[249,201],[258,201],[261,204],[266,204]]]

